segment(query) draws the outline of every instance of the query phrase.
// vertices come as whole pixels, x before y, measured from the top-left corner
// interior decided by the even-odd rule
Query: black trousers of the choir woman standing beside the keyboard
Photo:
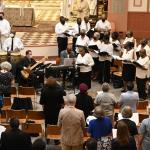
[[[79,72],[79,85],[85,83],[88,89],[91,88],[91,71],[90,72]]]

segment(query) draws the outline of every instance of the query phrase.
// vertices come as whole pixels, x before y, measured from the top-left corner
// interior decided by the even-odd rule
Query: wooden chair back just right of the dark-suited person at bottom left
[[[36,123],[22,123],[21,124],[22,131],[28,133],[28,134],[41,134],[44,135],[44,131],[42,129],[41,124]]]

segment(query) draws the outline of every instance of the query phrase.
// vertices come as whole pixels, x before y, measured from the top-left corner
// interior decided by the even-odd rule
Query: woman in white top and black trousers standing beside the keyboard
[[[92,56],[87,52],[86,47],[79,47],[79,54],[76,59],[76,65],[79,68],[79,84],[85,83],[88,89],[91,88],[91,71],[94,61]]]

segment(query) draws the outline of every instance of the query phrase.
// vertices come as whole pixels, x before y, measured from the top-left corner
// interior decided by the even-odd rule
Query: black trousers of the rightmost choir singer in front
[[[136,84],[137,84],[137,90],[138,90],[138,93],[139,93],[139,98],[142,98],[142,99],[146,99],[147,97],[147,94],[145,92],[146,90],[146,81],[147,79],[140,79],[140,78],[137,78],[136,77]]]

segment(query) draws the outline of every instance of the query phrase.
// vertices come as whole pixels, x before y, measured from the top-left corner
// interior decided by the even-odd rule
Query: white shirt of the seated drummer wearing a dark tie
[[[11,51],[12,38],[9,37],[4,41],[3,50]],[[23,50],[24,46],[20,38],[14,37],[13,39],[13,50]]]

